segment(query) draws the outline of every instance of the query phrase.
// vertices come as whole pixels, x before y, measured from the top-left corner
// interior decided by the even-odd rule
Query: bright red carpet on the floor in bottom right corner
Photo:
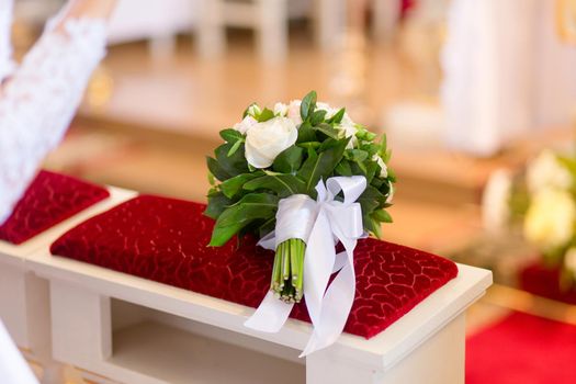
[[[576,383],[576,327],[513,313],[466,341],[466,384]]]

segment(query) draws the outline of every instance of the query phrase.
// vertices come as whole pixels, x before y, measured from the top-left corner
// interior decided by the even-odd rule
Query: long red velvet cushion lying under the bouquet
[[[138,196],[71,229],[52,253],[256,307],[270,284],[273,253],[246,239],[210,248],[213,221],[205,205]],[[370,338],[453,279],[456,266],[440,257],[361,240],[354,252],[357,294],[345,330]],[[309,321],[303,304],[292,317]]]

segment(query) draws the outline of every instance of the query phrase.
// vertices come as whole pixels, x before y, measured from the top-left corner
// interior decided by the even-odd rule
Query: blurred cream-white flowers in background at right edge
[[[490,230],[520,228],[549,267],[562,270],[562,285],[576,282],[576,155],[544,150],[526,170],[495,172],[484,193]]]

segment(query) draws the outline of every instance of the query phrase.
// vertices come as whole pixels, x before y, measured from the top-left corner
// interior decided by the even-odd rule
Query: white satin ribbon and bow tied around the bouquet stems
[[[350,314],[355,293],[353,252],[363,236],[362,211],[355,201],[365,188],[364,177],[335,177],[326,181],[326,187],[321,180],[318,182],[316,201],[305,194],[282,199],[275,231],[259,242],[272,250],[291,238],[306,242],[304,297],[314,331],[301,358],[334,343]],[[335,200],[340,192],[343,201]],[[338,241],[345,251],[336,255]],[[335,272],[338,274],[328,286]],[[245,326],[278,332],[293,305],[278,300],[270,291]]]

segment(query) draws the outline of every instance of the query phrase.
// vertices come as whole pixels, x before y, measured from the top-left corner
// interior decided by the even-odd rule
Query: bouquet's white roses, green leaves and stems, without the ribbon
[[[282,200],[316,199],[318,182],[335,177],[365,180],[358,201],[366,233],[380,236],[381,224],[392,222],[385,208],[392,204],[396,179],[387,166],[386,137],[376,140],[376,134],[354,123],[346,109],[317,102],[316,92],[287,104],[275,103],[271,110],[251,104],[242,120],[221,136],[225,143],[207,159],[213,188],[206,215],[216,219],[211,245],[222,246],[235,235],[252,233],[262,238],[271,234]],[[297,257],[287,275],[300,280],[293,286],[279,278],[272,289],[283,300],[300,302],[305,247],[296,248],[291,249]],[[279,249],[276,256],[285,253]]]

